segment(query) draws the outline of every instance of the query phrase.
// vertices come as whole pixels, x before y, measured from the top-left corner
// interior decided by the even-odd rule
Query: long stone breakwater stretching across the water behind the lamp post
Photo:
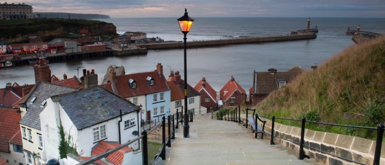
[[[262,36],[257,38],[239,38],[239,39],[223,39],[223,40],[207,40],[207,41],[191,41],[187,42],[187,47],[205,47],[205,46],[220,46],[232,44],[251,44],[251,43],[265,43],[265,42],[282,42],[295,40],[310,40],[317,38],[315,33],[302,33],[296,35],[277,35],[277,36]],[[150,49],[179,49],[183,48],[183,42],[164,42],[140,44],[141,48]]]

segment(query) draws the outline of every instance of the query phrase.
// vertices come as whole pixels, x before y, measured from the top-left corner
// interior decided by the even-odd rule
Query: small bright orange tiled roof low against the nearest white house
[[[100,155],[108,150],[112,150],[114,148],[117,148],[120,146],[118,142],[107,142],[107,141],[100,141],[94,148],[92,149],[91,154],[93,156]],[[115,165],[121,165],[124,154],[132,151],[131,148],[128,148],[127,146],[124,147],[123,149],[120,149],[117,152],[114,152],[106,157],[106,160],[112,164]]]

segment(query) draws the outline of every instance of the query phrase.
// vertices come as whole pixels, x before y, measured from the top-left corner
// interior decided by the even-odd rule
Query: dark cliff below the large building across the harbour
[[[11,21],[0,22],[0,40],[7,44],[26,42],[30,35],[37,35],[43,41],[58,37],[71,38],[69,33],[79,33],[81,29],[88,29],[89,33],[98,35],[115,35],[117,32],[111,23],[92,20],[32,19],[17,23]]]

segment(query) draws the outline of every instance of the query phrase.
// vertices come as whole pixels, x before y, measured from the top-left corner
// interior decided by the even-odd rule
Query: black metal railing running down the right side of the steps
[[[248,126],[247,123],[249,122],[248,121],[249,120],[249,118],[248,118],[248,111],[249,110],[254,110],[255,111],[255,109],[246,108],[246,118],[245,118],[245,127],[246,128]],[[238,122],[242,122],[241,118],[240,118],[240,106],[239,106],[238,112],[239,112],[238,113]],[[289,142],[292,142],[293,144],[299,145],[298,158],[300,160],[302,160],[304,158],[310,158],[304,152],[304,148],[307,148],[307,149],[311,149],[313,151],[316,151],[316,152],[319,152],[319,153],[322,153],[322,154],[328,154],[330,156],[342,159],[344,161],[354,162],[354,163],[361,164],[361,165],[367,165],[368,164],[368,163],[363,163],[363,162],[359,162],[359,161],[353,160],[353,158],[350,159],[350,158],[346,158],[346,157],[339,156],[339,155],[336,155],[336,154],[332,154],[330,152],[325,152],[323,150],[320,150],[319,147],[317,148],[317,147],[311,146],[310,142],[305,143],[305,126],[306,126],[306,123],[314,123],[314,124],[320,124],[320,125],[331,125],[331,126],[340,126],[340,127],[350,127],[350,128],[354,128],[354,129],[376,130],[377,131],[377,135],[376,135],[377,138],[376,138],[376,141],[375,141],[373,165],[379,165],[380,164],[382,138],[383,138],[383,133],[385,131],[385,126],[383,124],[379,124],[377,127],[356,126],[356,125],[343,125],[343,124],[334,124],[334,123],[310,121],[310,120],[306,120],[305,118],[302,118],[301,120],[299,120],[299,119],[279,118],[279,117],[275,117],[275,116],[273,116],[273,117],[265,117],[265,116],[259,115],[258,113],[253,114],[252,117],[254,119],[253,122],[255,122],[255,128],[256,128],[255,129],[255,132],[256,132],[255,138],[257,138],[257,124],[258,124],[258,120],[262,121],[263,128],[264,128],[264,123],[266,121],[262,120],[261,118],[271,119],[271,121],[272,121],[272,123],[271,123],[271,133],[264,132],[263,130],[261,132],[258,132],[258,133],[262,133],[261,139],[263,138],[263,134],[266,134],[266,135],[270,136],[270,144],[272,144],[272,145],[275,144],[275,142],[274,142],[275,138],[278,138],[278,139],[281,139],[281,140],[285,140],[285,141],[289,141]],[[229,111],[227,113],[227,121],[237,121],[236,118],[237,118],[237,108],[232,110],[232,111]],[[225,117],[224,120],[226,120],[226,117]],[[292,140],[292,139],[294,139],[294,137],[292,139],[290,139],[290,138],[286,138],[287,136],[279,136],[279,132],[275,131],[275,120],[288,120],[288,121],[299,122],[301,124],[300,139],[299,140],[297,140],[297,139],[296,140]],[[314,134],[314,136],[315,136],[315,134]]]

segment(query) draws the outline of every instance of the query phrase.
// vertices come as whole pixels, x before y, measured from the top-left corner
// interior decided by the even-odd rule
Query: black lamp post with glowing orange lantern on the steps
[[[181,28],[182,33],[184,34],[184,124],[183,124],[183,137],[188,138],[188,115],[187,115],[187,61],[186,61],[186,34],[190,31],[192,22],[194,19],[191,19],[187,14],[187,9],[184,9],[184,15],[178,19],[179,27]]]

